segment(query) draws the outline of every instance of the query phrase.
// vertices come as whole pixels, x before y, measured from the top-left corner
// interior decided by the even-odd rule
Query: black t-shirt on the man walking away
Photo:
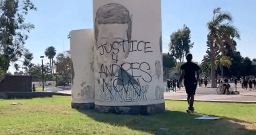
[[[184,82],[194,83],[196,81],[196,71],[200,69],[197,64],[186,62],[181,66],[181,69],[185,70]]]

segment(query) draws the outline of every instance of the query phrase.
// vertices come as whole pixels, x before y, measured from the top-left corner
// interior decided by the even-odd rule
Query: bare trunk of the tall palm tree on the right
[[[217,84],[216,84],[216,73],[215,73],[215,49],[213,46],[213,37],[212,35],[210,35],[210,50],[211,50],[211,74],[212,74],[212,88],[216,88]]]

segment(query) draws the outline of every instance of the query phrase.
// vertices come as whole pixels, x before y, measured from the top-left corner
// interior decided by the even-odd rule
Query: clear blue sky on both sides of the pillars
[[[69,50],[69,31],[93,28],[92,0],[31,0],[37,11],[30,11],[25,22],[35,25],[25,47],[33,52],[33,63],[41,63],[40,56],[49,46],[58,52]],[[147,0],[144,0],[147,1]],[[255,0],[162,0],[162,38],[163,52],[168,52],[170,35],[186,24],[191,30],[191,49],[193,61],[201,62],[206,47],[206,24],[212,18],[212,10],[221,7],[234,18],[234,25],[239,29],[241,40],[237,41],[237,50],[243,57],[256,58],[255,52]],[[146,7],[145,7],[146,8]],[[44,63],[48,62],[44,58]],[[13,67],[9,68],[12,73]]]

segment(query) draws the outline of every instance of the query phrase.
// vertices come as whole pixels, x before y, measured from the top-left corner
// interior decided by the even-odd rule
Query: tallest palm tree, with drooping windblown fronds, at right
[[[228,21],[228,23],[224,23]],[[216,70],[215,70],[215,59],[216,59],[216,47],[220,47],[220,52],[222,55],[225,55],[225,44],[228,43],[231,45],[232,49],[235,50],[235,45],[233,38],[236,37],[240,39],[238,30],[230,25],[233,21],[231,14],[227,12],[222,12],[220,7],[213,10],[213,19],[207,23],[209,29],[209,38],[210,38],[210,51],[211,51],[211,74],[212,80],[216,79]],[[216,88],[216,81],[212,81],[212,88]]]

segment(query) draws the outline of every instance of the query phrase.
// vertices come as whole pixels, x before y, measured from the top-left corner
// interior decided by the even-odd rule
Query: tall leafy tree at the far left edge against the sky
[[[24,32],[30,32],[35,27],[33,24],[24,23],[24,15],[28,14],[29,10],[36,10],[30,0],[0,1],[0,54],[4,55],[3,57],[8,56],[9,63],[21,58],[25,41],[28,39]],[[16,64],[15,68],[17,67]]]

